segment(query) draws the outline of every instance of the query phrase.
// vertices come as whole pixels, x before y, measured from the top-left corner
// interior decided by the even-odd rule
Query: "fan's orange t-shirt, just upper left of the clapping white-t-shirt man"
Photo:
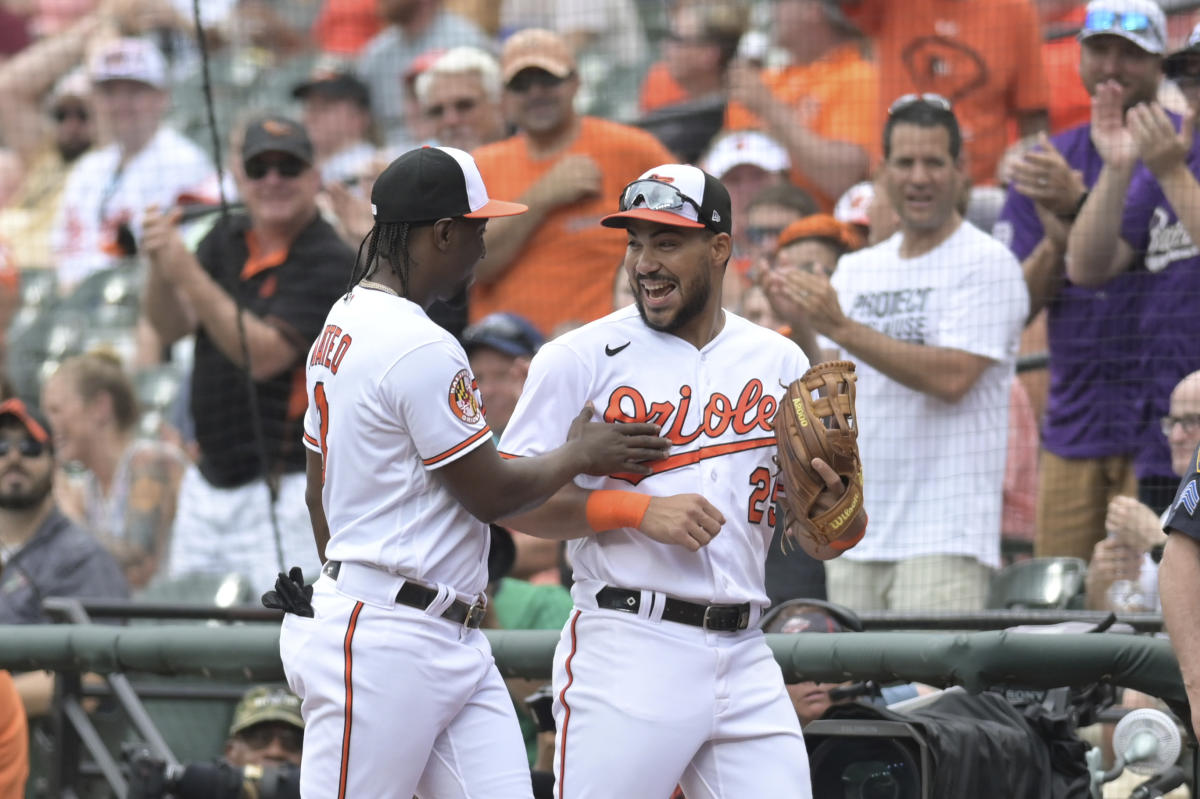
[[[762,82],[776,100],[796,109],[796,124],[817,136],[862,145],[872,157],[880,152],[878,84],[875,65],[856,43],[842,44],[812,64],[767,70]],[[766,130],[762,121],[739,103],[730,103],[725,127],[731,131]],[[824,210],[836,197],[826,197],[792,169],[792,182],[808,191]]]

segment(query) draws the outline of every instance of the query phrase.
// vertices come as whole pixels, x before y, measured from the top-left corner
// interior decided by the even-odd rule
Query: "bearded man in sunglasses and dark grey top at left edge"
[[[54,501],[49,423],[20,400],[0,403],[0,624],[42,624],[47,596],[125,599],[113,557]],[[47,713],[54,678],[16,674],[30,716]]]

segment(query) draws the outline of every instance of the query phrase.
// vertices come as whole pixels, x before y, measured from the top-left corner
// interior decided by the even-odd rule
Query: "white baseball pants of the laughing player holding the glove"
[[[799,720],[756,627],[576,609],[553,684],[556,799],[665,799],[677,783],[688,799],[811,799]]]

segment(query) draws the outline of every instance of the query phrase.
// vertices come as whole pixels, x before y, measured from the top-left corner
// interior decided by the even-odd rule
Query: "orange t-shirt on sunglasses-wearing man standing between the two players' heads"
[[[596,197],[546,216],[500,278],[475,283],[470,320],[496,311],[520,313],[550,335],[564,322],[586,323],[612,311],[612,286],[625,257],[625,233],[600,226],[617,211],[625,185],[674,156],[644,131],[594,116],[581,120],[575,142],[560,154],[534,161],[523,136],[488,144],[473,155],[491,197],[517,199],[563,156],[590,156],[604,186]]]

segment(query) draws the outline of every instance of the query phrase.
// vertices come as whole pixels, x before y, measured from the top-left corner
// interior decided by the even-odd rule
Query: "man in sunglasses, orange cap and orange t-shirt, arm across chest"
[[[504,109],[517,133],[474,155],[488,187],[529,212],[487,228],[475,270],[470,320],[511,311],[550,335],[612,308],[620,235],[596,222],[629,180],[671,161],[644,131],[575,112],[575,55],[558,34],[528,29],[504,43]]]

